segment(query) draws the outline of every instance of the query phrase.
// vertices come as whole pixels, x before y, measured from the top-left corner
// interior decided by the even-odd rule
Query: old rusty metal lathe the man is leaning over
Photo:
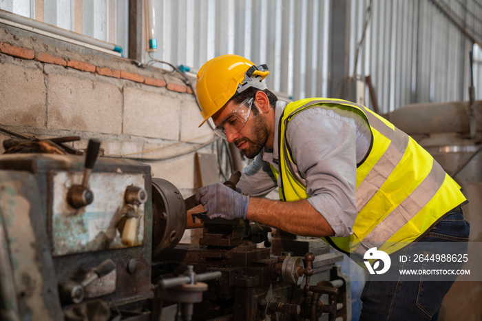
[[[342,254],[321,240],[187,214],[149,165],[96,160],[99,141],[85,156],[8,143],[21,153],[0,156],[1,320],[350,320]],[[189,225],[200,244],[179,244]]]

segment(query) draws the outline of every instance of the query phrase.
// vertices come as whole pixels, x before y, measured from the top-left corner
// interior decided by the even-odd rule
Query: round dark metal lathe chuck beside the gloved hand
[[[162,178],[152,179],[152,255],[174,248],[186,228],[186,205],[179,190]]]

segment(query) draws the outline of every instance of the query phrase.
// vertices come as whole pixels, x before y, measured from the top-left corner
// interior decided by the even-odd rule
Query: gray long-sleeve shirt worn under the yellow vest
[[[280,169],[278,121],[284,107],[275,107],[275,138],[273,149],[264,149],[243,170],[237,187],[251,196],[264,196],[280,186],[269,164]],[[306,186],[308,202],[326,219],[335,236],[353,234],[357,217],[355,187],[357,163],[370,147],[371,134],[364,119],[346,110],[317,105],[302,110],[287,127],[286,140],[291,156]]]

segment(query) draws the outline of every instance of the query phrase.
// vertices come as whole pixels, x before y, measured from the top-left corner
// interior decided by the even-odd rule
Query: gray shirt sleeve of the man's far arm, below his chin
[[[244,167],[240,181],[236,184],[236,189],[241,193],[257,197],[266,196],[275,187],[277,184],[271,167],[259,154],[254,161]]]

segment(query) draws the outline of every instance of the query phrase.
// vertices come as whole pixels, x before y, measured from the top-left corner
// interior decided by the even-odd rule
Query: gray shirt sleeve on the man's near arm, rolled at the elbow
[[[357,125],[331,110],[308,108],[293,117],[287,141],[308,202],[326,219],[336,237],[353,234],[357,217]]]

